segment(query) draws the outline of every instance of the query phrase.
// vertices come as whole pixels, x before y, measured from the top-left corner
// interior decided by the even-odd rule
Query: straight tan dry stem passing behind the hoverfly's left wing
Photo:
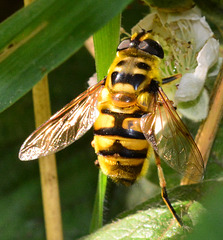
[[[47,77],[33,87],[33,105],[36,127],[38,127],[51,115]],[[47,240],[62,240],[63,230],[55,155],[40,158],[39,168]]]

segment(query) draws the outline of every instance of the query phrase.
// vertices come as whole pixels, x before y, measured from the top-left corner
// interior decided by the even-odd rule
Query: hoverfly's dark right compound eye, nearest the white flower
[[[163,48],[161,47],[161,45],[152,40],[152,39],[146,39],[142,42],[139,43],[138,48],[144,52],[147,52],[151,55],[155,55],[159,58],[163,58],[164,57],[164,52],[163,52]]]

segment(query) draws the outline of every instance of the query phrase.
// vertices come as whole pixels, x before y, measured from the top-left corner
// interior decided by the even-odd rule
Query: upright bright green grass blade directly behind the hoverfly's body
[[[106,76],[108,68],[115,57],[116,48],[119,43],[120,19],[120,15],[116,16],[93,36],[98,80]],[[107,176],[100,170],[90,232],[94,232],[103,225],[106,185]]]

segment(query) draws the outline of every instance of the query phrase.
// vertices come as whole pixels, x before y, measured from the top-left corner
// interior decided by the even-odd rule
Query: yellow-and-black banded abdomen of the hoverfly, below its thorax
[[[148,142],[140,130],[142,115],[106,108],[101,109],[94,124],[93,146],[100,168],[114,181],[125,185],[134,183],[146,168]]]

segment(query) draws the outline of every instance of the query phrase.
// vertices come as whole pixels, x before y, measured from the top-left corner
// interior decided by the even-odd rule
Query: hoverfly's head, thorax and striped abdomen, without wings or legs
[[[151,110],[151,85],[160,82],[158,64],[163,57],[161,46],[149,36],[136,34],[120,43],[98,98],[92,145],[104,174],[125,185],[148,167],[149,143],[140,120]]]

